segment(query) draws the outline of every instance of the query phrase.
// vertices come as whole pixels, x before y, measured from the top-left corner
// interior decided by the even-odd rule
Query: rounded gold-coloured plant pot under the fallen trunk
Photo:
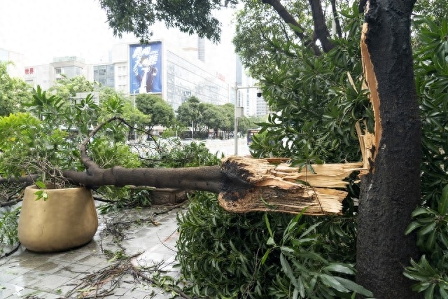
[[[36,252],[72,249],[90,242],[98,228],[92,192],[86,188],[45,189],[36,200],[35,185],[25,188],[20,211],[20,243]]]

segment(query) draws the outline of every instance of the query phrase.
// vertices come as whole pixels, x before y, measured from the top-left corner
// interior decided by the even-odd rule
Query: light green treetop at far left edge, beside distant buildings
[[[0,62],[0,116],[23,111],[21,104],[31,99],[31,86],[20,78],[11,78],[8,74],[8,64]]]

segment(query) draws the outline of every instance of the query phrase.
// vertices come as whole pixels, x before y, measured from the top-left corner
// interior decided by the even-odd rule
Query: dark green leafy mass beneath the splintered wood
[[[216,195],[190,197],[178,215],[177,260],[195,296],[211,298],[351,298],[372,295],[355,284],[353,266],[335,261],[335,247],[316,218],[229,214]],[[323,220],[325,221],[325,219]],[[339,228],[340,229],[340,228]],[[292,297],[291,297],[292,296]]]

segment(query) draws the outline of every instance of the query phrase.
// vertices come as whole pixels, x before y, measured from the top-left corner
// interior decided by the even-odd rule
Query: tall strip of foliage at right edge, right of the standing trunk
[[[418,48],[414,53],[416,88],[423,131],[421,187],[423,201],[435,207],[448,184],[448,24],[417,16],[414,26]]]

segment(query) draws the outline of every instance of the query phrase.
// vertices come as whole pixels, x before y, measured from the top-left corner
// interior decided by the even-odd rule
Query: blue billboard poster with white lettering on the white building
[[[130,94],[162,92],[162,43],[130,45]]]

